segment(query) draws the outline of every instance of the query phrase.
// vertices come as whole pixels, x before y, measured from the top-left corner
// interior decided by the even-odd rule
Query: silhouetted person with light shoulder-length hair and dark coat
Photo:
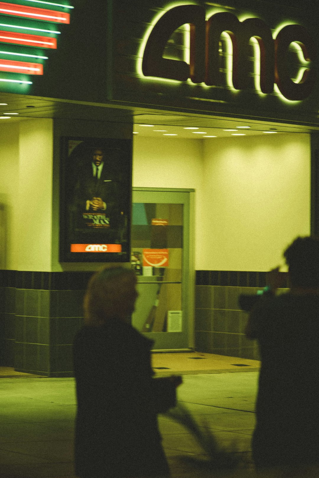
[[[103,269],[88,284],[86,325],[74,341],[81,478],[170,476],[157,413],[175,405],[181,378],[153,378],[153,341],[130,325],[137,296],[135,273],[123,267]]]

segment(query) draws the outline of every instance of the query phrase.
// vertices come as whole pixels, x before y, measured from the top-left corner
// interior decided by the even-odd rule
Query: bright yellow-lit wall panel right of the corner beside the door
[[[310,137],[205,141],[206,258],[198,269],[267,271],[310,233]],[[205,267],[203,267],[205,266]]]

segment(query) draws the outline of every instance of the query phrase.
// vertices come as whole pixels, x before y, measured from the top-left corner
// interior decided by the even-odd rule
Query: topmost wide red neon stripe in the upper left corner
[[[62,11],[46,10],[44,8],[26,7],[14,3],[0,2],[0,13],[18,17],[33,18],[46,22],[70,23],[70,14]]]

